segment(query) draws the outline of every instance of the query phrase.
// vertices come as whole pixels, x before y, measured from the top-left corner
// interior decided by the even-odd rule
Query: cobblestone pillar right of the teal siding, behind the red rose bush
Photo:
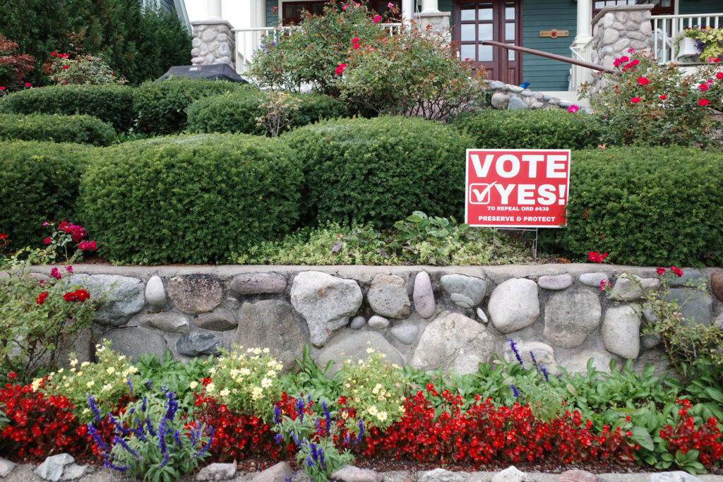
[[[615,59],[628,55],[628,49],[652,47],[650,10],[652,4],[606,7],[592,20],[592,61],[614,69]]]

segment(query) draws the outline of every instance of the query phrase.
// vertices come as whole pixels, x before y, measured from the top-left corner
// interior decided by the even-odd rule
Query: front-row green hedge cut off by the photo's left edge
[[[0,233],[12,249],[43,246],[43,221],[79,223],[80,174],[90,152],[77,144],[0,142]]]

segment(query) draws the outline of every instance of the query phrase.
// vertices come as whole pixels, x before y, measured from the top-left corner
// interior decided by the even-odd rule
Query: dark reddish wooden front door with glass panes
[[[484,66],[487,78],[520,85],[522,56],[518,52],[484,46],[482,40],[522,45],[522,1],[455,0],[454,39],[462,59]]]

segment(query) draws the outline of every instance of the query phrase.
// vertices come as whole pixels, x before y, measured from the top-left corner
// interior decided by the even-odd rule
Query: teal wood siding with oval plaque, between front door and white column
[[[581,0],[582,1],[582,0]],[[577,32],[577,3],[574,0],[523,0],[522,45],[570,57],[570,46]],[[540,30],[570,30],[569,37],[540,37]],[[570,64],[544,57],[524,54],[523,82],[532,90],[568,90]]]

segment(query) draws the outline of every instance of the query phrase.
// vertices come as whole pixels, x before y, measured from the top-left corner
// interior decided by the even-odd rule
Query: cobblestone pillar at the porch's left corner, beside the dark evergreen
[[[228,64],[235,70],[236,38],[232,32],[234,27],[226,20],[220,19],[200,20],[192,22],[192,25],[192,64]]]

